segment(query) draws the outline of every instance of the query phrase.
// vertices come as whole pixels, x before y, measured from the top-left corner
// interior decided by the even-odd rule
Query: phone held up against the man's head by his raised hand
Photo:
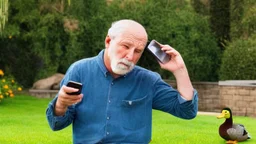
[[[156,40],[152,40],[147,48],[161,63],[170,61],[170,56],[161,50],[160,44]]]

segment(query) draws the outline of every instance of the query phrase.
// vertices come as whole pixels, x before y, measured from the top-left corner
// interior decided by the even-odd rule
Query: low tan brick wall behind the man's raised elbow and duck
[[[176,88],[174,81],[166,80]],[[234,115],[256,117],[256,81],[193,82],[198,92],[198,109],[220,112],[230,107]]]

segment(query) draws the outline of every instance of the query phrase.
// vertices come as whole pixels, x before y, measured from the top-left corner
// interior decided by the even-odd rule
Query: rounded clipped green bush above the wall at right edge
[[[226,48],[220,69],[221,80],[256,79],[256,35],[237,39]]]

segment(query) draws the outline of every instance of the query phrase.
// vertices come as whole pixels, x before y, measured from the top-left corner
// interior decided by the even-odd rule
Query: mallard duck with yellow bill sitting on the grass
[[[250,139],[250,135],[242,124],[234,124],[230,108],[222,109],[218,119],[225,118],[225,122],[219,127],[219,135],[226,140],[228,144],[236,144],[239,141]]]

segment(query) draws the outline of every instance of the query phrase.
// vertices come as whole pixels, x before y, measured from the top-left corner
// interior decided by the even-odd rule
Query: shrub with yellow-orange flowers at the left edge
[[[14,93],[21,90],[21,86],[12,76],[5,76],[3,70],[0,69],[0,102],[7,97],[13,98]]]

